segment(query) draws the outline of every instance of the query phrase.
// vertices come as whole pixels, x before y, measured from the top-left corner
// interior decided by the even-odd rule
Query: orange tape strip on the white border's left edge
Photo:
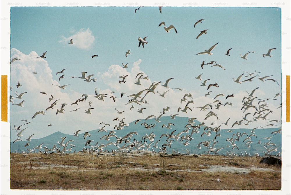
[[[8,98],[7,98],[7,75],[1,75],[1,121],[7,122]]]

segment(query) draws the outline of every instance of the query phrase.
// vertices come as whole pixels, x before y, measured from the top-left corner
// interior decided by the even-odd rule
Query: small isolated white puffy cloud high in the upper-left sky
[[[73,39],[73,43],[76,45],[79,49],[90,49],[93,42],[95,41],[95,37],[93,35],[93,32],[88,29],[80,29],[75,33],[74,29],[70,29],[72,34],[69,37],[62,36],[62,39],[59,41],[64,44],[68,44],[71,39]]]

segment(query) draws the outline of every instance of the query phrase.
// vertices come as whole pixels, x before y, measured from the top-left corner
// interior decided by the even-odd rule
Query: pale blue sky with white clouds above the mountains
[[[11,8],[11,59],[18,57],[21,60],[11,64],[10,91],[12,96],[27,92],[23,95],[23,106],[10,104],[11,140],[16,139],[14,125],[22,124],[20,120],[31,119],[36,111],[45,110],[51,105],[48,98],[53,94],[60,99],[55,109],[49,109],[46,115],[38,115],[34,123],[30,123],[24,136],[34,133],[33,138],[47,136],[56,131],[72,134],[74,130],[94,130],[99,128],[100,122],[108,122],[114,126],[113,118],[120,116],[114,108],[126,110],[122,118],[130,123],[138,118],[146,118],[149,115],[158,116],[163,107],[171,107],[166,113],[179,114],[179,116],[196,117],[201,122],[207,112],[198,108],[212,103],[214,97],[223,93],[235,94],[233,107],[223,106],[223,109],[214,109],[219,113],[219,120],[205,121],[215,122],[217,125],[225,123],[231,117],[230,123],[241,120],[246,114],[240,111],[242,98],[259,87],[255,92],[258,98],[274,98],[281,94],[281,9],[280,8],[210,8],[210,7],[163,7],[162,14],[158,7],[141,7],[134,14],[135,7],[12,7]],[[254,19],[255,18],[255,19]],[[199,19],[205,19],[198,23],[194,29],[194,23]],[[161,22],[166,26],[173,25],[173,29],[166,32]],[[207,30],[207,34],[195,39],[200,31]],[[145,37],[148,44],[145,48],[138,47],[138,37]],[[73,38],[74,45],[68,44]],[[212,45],[218,45],[212,50],[212,55],[199,52],[209,49]],[[230,56],[224,55],[230,49]],[[273,50],[272,57],[262,57],[268,49]],[[125,57],[125,52],[131,49],[131,54]],[[35,58],[47,51],[47,58]],[[240,58],[239,54],[250,53],[248,60]],[[97,54],[94,59],[91,55]],[[200,67],[202,61],[217,61],[226,70],[219,67],[205,65]],[[122,68],[122,63],[128,63],[129,68]],[[58,81],[61,74],[56,72],[67,68],[63,74],[65,78]],[[258,73],[260,77],[273,75],[271,80],[262,82],[257,77],[252,82],[238,84],[233,82],[244,73],[243,71]],[[37,71],[37,74],[33,74]],[[93,74],[91,78],[97,78],[96,82],[84,82],[79,78],[81,72]],[[142,85],[135,85],[137,73],[143,72],[149,80],[141,79]],[[202,73],[202,79],[197,77]],[[126,83],[118,83],[119,76],[128,75]],[[255,75],[253,75],[255,76]],[[130,111],[131,105],[125,105],[130,97],[120,98],[120,92],[131,95],[148,88],[153,81],[165,82],[174,77],[168,86],[170,91],[166,98],[156,94],[146,97],[149,104],[135,105],[135,110]],[[242,77],[241,81],[249,77]],[[200,86],[205,79],[207,86],[217,82],[219,88]],[[17,81],[22,87],[16,88]],[[60,89],[56,85],[65,85]],[[106,93],[105,101],[97,100],[95,87],[98,93]],[[182,88],[184,91],[171,88]],[[157,91],[164,93],[167,88],[158,86]],[[41,91],[48,95],[40,94]],[[111,91],[116,91],[111,94]],[[212,91],[205,97],[208,91]],[[247,91],[247,92],[246,92]],[[177,112],[180,99],[185,93],[192,93],[195,104],[190,107],[193,111],[188,113]],[[80,105],[71,104],[81,98],[82,94],[88,94],[87,102]],[[117,101],[113,102],[109,97],[114,95]],[[143,94],[144,95],[144,94]],[[225,97],[218,97],[224,104]],[[56,100],[55,99],[55,100]],[[258,120],[251,123],[250,128],[266,126],[269,120],[281,120],[281,96],[277,100],[268,101],[268,108],[273,111],[268,120]],[[84,113],[89,108],[88,101],[93,101],[92,114]],[[191,100],[191,98],[188,98]],[[15,103],[22,100],[16,99]],[[259,100],[256,100],[258,103]],[[65,106],[65,114],[56,115],[56,109],[60,109],[61,103]],[[214,104],[213,104],[214,106]],[[78,112],[69,112],[77,109]],[[143,114],[137,109],[146,107]],[[252,112],[252,111],[250,111]],[[252,117],[249,117],[252,120]],[[52,124],[52,127],[48,127]],[[278,127],[280,124],[278,124]],[[226,127],[227,128],[227,127]],[[235,127],[239,128],[239,127]]]

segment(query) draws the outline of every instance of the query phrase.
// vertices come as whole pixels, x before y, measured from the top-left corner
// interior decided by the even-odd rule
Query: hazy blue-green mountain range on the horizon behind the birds
[[[133,142],[134,140],[138,140],[140,141],[141,139],[143,139],[145,135],[149,135],[151,133],[155,134],[155,138],[154,138],[154,143],[157,142],[158,140],[159,143],[157,144],[157,146],[162,147],[162,144],[166,143],[166,136],[163,136],[161,138],[162,134],[171,134],[171,132],[173,132],[173,135],[176,135],[178,133],[180,133],[183,130],[186,130],[186,125],[188,124],[188,119],[187,117],[175,117],[176,119],[171,119],[169,116],[163,116],[160,118],[160,122],[156,121],[155,118],[151,118],[148,120],[141,120],[139,122],[137,122],[136,124],[135,121],[129,123],[128,126],[125,126],[125,128],[123,128],[122,130],[114,130],[116,133],[115,135],[117,137],[123,137],[125,135],[127,135],[129,132],[137,132],[136,134],[133,134],[132,138],[131,138],[131,142]],[[200,122],[197,120],[194,120],[195,125],[199,125]],[[154,125],[154,128],[150,128],[150,129],[146,129],[144,125],[144,123],[147,123],[148,125]],[[168,129],[166,127],[162,127],[163,124],[168,125],[168,123],[173,123],[174,125],[171,125],[171,129]],[[224,125],[225,126],[225,125]],[[215,125],[213,125],[213,127],[217,127]],[[190,151],[191,153],[196,153],[196,154],[201,154],[201,153],[206,153],[208,151],[208,149],[203,146],[201,144],[201,149],[198,149],[196,146],[203,141],[206,140],[213,140],[214,137],[216,136],[215,132],[212,132],[210,134],[210,136],[207,136],[207,134],[204,134],[203,136],[202,133],[203,132],[207,132],[207,130],[204,131],[204,126],[201,126],[199,129],[199,132],[197,133],[193,133],[192,134],[192,138],[191,141],[189,141],[189,145],[184,146],[184,142],[186,142],[187,140],[183,140],[180,141],[180,139],[178,140],[174,140],[172,141],[171,144],[171,148],[167,147],[167,151],[168,153],[172,153],[172,149],[174,150],[178,150],[180,153],[185,153],[185,150],[187,149],[188,151]],[[42,145],[42,151],[43,151],[43,146],[46,146],[47,148],[53,148],[54,145],[56,145],[57,147],[61,147],[58,145],[57,141],[61,142],[61,137],[66,137],[64,143],[66,143],[67,141],[69,141],[70,139],[74,140],[69,142],[69,144],[73,144],[75,145],[75,147],[72,148],[72,151],[76,151],[79,152],[81,151],[84,147],[85,148],[90,148],[91,146],[85,146],[85,143],[88,139],[93,140],[91,142],[92,146],[95,146],[95,144],[98,142],[97,146],[100,146],[100,144],[107,144],[110,141],[112,142],[116,142],[116,137],[111,137],[109,141],[105,140],[105,139],[100,139],[102,136],[104,135],[108,135],[108,133],[113,130],[113,127],[111,126],[106,126],[104,129],[107,130],[107,132],[102,131],[102,132],[98,132],[98,130],[92,130],[89,131],[89,133],[91,134],[91,136],[87,136],[86,139],[84,139],[84,133],[86,132],[86,130],[82,130],[79,132],[79,136],[74,136],[74,135],[70,135],[70,134],[64,134],[61,132],[55,132],[49,136],[40,138],[40,139],[31,139],[31,142],[29,142],[29,146],[24,147],[24,145],[27,143],[27,141],[17,141],[15,143],[10,142],[10,151],[11,152],[21,152],[26,151],[27,148],[33,149],[36,146],[39,146],[40,144],[43,143]],[[244,139],[246,139],[250,134],[251,134],[251,129],[247,129],[247,128],[242,128],[242,129],[232,129],[233,132],[226,132],[229,129],[221,129],[219,132],[221,136],[217,136],[216,141],[218,141],[215,145],[214,148],[223,148],[222,150],[219,151],[219,154],[226,154],[226,151],[234,151],[235,153],[245,153],[245,151],[247,153],[250,153],[251,155],[254,155],[255,153],[259,153],[260,155],[264,155],[263,151],[267,151],[266,148],[264,148],[264,143],[267,143],[268,141],[271,140],[271,143],[274,143],[276,145],[277,151],[276,152],[272,152],[272,155],[275,155],[276,153],[281,152],[281,134],[271,134],[272,132],[278,130],[279,128],[270,128],[270,129],[256,129],[255,130],[255,136],[251,136],[251,141],[253,141],[253,143],[251,143],[251,147],[247,147],[246,145],[244,145],[246,143],[246,141],[244,141]],[[186,136],[187,134],[191,134],[191,130],[192,128],[189,130],[189,132],[184,132],[182,133],[179,137],[181,138],[181,136]],[[237,148],[232,149],[233,147],[230,145],[230,143],[228,141],[226,141],[227,138],[235,138],[236,136],[233,134],[236,134],[237,132],[243,133],[246,132],[246,134],[244,134],[243,136],[241,136],[239,138],[239,141],[235,141],[236,146],[238,146],[239,150]],[[272,136],[272,137],[271,137]],[[271,137],[270,140],[268,139],[264,139],[266,137]],[[258,144],[258,141],[261,140],[262,144]],[[180,141],[180,142],[179,142]],[[141,143],[147,143],[150,144],[150,141],[148,139],[143,139]],[[150,150],[152,150],[154,143],[152,143],[150,145]],[[212,145],[214,142],[211,141],[210,145]],[[125,144],[125,141],[123,141],[122,143],[119,144],[119,146],[123,146]],[[127,145],[129,143],[126,143]],[[270,147],[272,145],[267,146]],[[68,146],[67,149],[69,149],[71,146]],[[61,147],[60,149],[62,149],[63,147]],[[275,148],[275,147],[273,147]],[[111,151],[112,149],[116,149],[118,150],[117,146],[109,145],[107,146],[107,148],[104,148],[104,150],[109,150]],[[159,151],[159,148],[154,148],[155,151]],[[38,150],[36,150],[38,151]]]

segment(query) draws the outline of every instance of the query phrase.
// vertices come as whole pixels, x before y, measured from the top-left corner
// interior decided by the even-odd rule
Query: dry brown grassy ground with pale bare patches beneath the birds
[[[281,189],[281,167],[257,157],[11,154],[11,189]],[[66,166],[64,166],[66,165]],[[250,173],[189,172],[210,165],[270,168]],[[49,167],[48,167],[49,166]],[[278,172],[280,171],[280,172]],[[221,181],[217,181],[217,179]]]

